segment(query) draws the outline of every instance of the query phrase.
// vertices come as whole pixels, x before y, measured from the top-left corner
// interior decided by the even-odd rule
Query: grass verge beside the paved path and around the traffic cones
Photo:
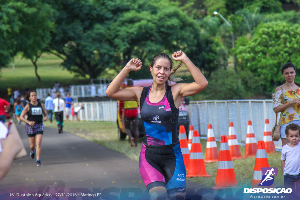
[[[56,128],[55,124],[45,123],[47,127]],[[88,139],[92,142],[104,145],[110,149],[121,152],[131,159],[138,160],[140,155],[140,148],[142,146],[142,139],[139,139],[138,149],[130,147],[128,139],[126,141],[119,141],[117,138],[117,126],[115,123],[105,122],[65,122],[64,131],[74,134],[76,136]],[[201,146],[203,156],[205,158],[206,140],[201,139]],[[218,149],[220,143],[217,142]],[[244,146],[241,148],[241,155],[244,155]],[[251,188],[253,169],[255,164],[255,157],[248,157],[241,160],[232,161],[235,171],[236,180],[239,187]],[[280,169],[280,152],[275,154],[268,154],[268,163],[270,167],[278,168],[278,175],[275,178],[273,187],[283,184],[283,176]],[[217,162],[205,163],[207,174],[211,177],[194,177],[188,178],[191,181],[197,182],[205,187],[214,187],[217,175]]]

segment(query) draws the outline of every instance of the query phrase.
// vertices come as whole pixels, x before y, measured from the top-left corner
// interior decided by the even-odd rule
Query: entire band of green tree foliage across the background
[[[143,68],[129,77],[142,79],[150,77],[155,54],[183,50],[209,82],[193,100],[271,98],[284,83],[281,66],[292,62],[299,69],[299,5],[299,0],[1,0],[0,68],[22,55],[41,81],[38,60],[51,53],[76,77],[114,78],[138,57]],[[184,67],[178,75],[193,81]]]

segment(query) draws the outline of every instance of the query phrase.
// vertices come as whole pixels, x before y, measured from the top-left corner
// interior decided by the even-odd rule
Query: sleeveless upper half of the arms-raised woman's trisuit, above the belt
[[[145,130],[143,142],[146,145],[171,145],[179,139],[177,123],[179,109],[175,107],[171,86],[158,103],[151,103],[149,92],[152,86],[144,87],[141,102],[141,119]]]

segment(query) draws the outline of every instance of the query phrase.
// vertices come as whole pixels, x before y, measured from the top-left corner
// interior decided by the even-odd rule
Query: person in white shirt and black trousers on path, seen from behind
[[[58,133],[62,132],[62,125],[64,124],[64,100],[61,99],[61,94],[58,92],[56,94],[57,98],[53,99],[53,112],[56,119],[56,124],[58,128]]]

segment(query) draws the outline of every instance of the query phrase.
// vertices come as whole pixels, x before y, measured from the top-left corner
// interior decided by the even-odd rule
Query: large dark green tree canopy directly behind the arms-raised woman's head
[[[212,71],[216,49],[199,25],[177,4],[161,0],[48,1],[57,11],[48,45],[63,66],[97,78],[107,68],[122,67],[132,57],[150,63],[160,52],[184,50],[201,69]],[[145,68],[131,76],[145,76]]]

